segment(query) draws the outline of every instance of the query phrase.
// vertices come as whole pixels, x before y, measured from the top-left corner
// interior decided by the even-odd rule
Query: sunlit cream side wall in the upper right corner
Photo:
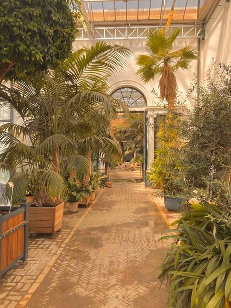
[[[212,58],[219,63],[231,62],[231,1],[221,0],[212,19],[205,28],[205,40],[201,40],[201,77],[206,79]]]

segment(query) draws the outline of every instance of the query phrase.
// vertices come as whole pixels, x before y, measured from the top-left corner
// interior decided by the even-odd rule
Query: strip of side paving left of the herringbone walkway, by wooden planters
[[[14,266],[0,279],[0,308],[18,305],[39,275],[46,271],[45,267],[52,263],[52,258],[59,254],[63,242],[84,212],[85,208],[80,208],[78,213],[72,214],[65,208],[62,232],[58,232],[54,239],[49,234],[37,234],[29,239],[26,263]]]

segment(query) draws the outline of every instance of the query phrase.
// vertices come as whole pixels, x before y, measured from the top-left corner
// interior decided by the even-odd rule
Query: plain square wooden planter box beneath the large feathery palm
[[[56,207],[30,207],[29,208],[29,234],[51,233],[54,237],[55,232],[62,228],[62,217],[64,202]]]

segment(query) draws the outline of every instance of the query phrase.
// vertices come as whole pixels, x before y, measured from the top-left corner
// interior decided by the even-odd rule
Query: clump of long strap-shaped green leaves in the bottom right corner
[[[229,196],[230,197],[230,196]],[[162,264],[170,282],[168,307],[229,308],[231,303],[231,203],[202,201],[178,221]]]

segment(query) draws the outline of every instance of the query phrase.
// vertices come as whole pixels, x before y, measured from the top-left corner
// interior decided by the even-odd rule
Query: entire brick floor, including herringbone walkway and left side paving
[[[130,180],[106,188],[87,212],[66,209],[54,239],[30,239],[26,263],[0,279],[0,308],[166,308],[157,277],[168,242],[158,239],[177,215]]]

